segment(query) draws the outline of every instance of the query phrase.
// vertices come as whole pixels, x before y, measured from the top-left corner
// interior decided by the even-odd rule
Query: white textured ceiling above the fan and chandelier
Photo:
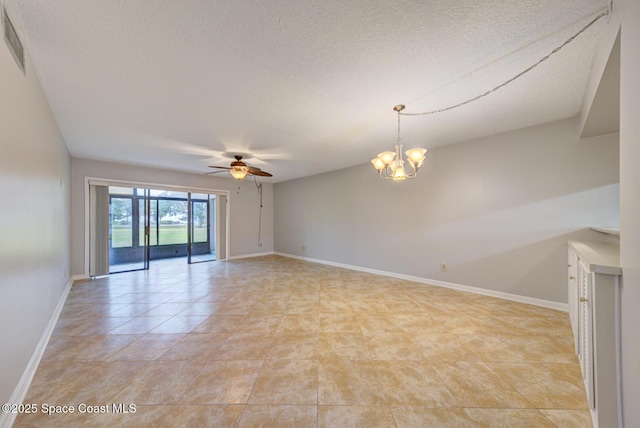
[[[204,173],[252,153],[276,183],[369,162],[395,144],[394,105],[481,94],[608,1],[4,3],[72,156]],[[577,115],[606,20],[497,93],[403,117],[405,147]]]

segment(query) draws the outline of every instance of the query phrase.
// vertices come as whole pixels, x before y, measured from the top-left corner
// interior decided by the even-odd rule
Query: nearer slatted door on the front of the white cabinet
[[[582,261],[578,263],[578,329],[580,367],[589,406],[595,409],[595,385],[593,374],[593,274]]]

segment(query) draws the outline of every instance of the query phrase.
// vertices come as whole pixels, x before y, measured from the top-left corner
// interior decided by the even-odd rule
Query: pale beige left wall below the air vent
[[[34,354],[70,273],[70,159],[36,73],[0,41],[0,403]],[[1,415],[0,415],[1,416]]]

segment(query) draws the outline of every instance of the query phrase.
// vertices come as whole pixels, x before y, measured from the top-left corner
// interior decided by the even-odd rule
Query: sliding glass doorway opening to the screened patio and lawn
[[[91,182],[89,188],[90,276],[148,269],[164,259],[226,257],[226,227],[219,230],[225,194]]]

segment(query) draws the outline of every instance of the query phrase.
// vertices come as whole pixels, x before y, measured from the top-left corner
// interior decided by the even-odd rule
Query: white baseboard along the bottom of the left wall
[[[69,280],[67,285],[65,286],[64,291],[62,292],[62,296],[60,296],[60,300],[58,300],[58,305],[53,311],[51,315],[51,319],[47,324],[42,336],[40,337],[40,341],[38,342],[38,346],[33,351],[33,355],[31,356],[31,360],[27,365],[27,368],[24,370],[22,377],[20,378],[20,382],[13,390],[13,394],[11,394],[11,398],[9,399],[9,403],[11,404],[19,404],[22,403],[24,397],[27,395],[27,391],[29,390],[29,386],[31,385],[31,381],[33,380],[33,376],[36,374],[36,370],[38,369],[38,365],[40,364],[40,360],[42,359],[42,355],[44,354],[45,349],[47,348],[47,344],[49,343],[49,339],[51,338],[51,334],[53,333],[53,329],[58,322],[58,318],[60,317],[60,313],[62,312],[62,308],[64,307],[64,303],[67,300],[67,296],[69,295],[69,291],[71,291],[71,286],[73,285],[73,279]],[[0,413],[0,427],[10,427],[15,422],[17,413]]]

